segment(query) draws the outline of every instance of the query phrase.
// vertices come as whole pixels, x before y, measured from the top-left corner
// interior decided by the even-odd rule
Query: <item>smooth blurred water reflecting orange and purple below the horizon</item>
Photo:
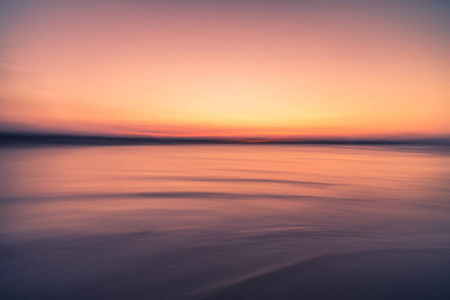
[[[0,149],[1,299],[450,299],[450,151]]]

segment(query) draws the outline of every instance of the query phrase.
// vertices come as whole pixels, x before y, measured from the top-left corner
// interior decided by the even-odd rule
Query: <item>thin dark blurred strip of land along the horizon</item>
[[[0,132],[0,146],[39,145],[165,145],[165,144],[317,144],[317,145],[450,145],[450,136],[404,136],[385,138],[305,137],[169,137],[114,136],[46,132]]]

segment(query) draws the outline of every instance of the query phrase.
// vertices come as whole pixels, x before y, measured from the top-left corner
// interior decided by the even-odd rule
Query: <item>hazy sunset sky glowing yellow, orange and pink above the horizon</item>
[[[445,1],[0,0],[0,128],[450,134]]]

